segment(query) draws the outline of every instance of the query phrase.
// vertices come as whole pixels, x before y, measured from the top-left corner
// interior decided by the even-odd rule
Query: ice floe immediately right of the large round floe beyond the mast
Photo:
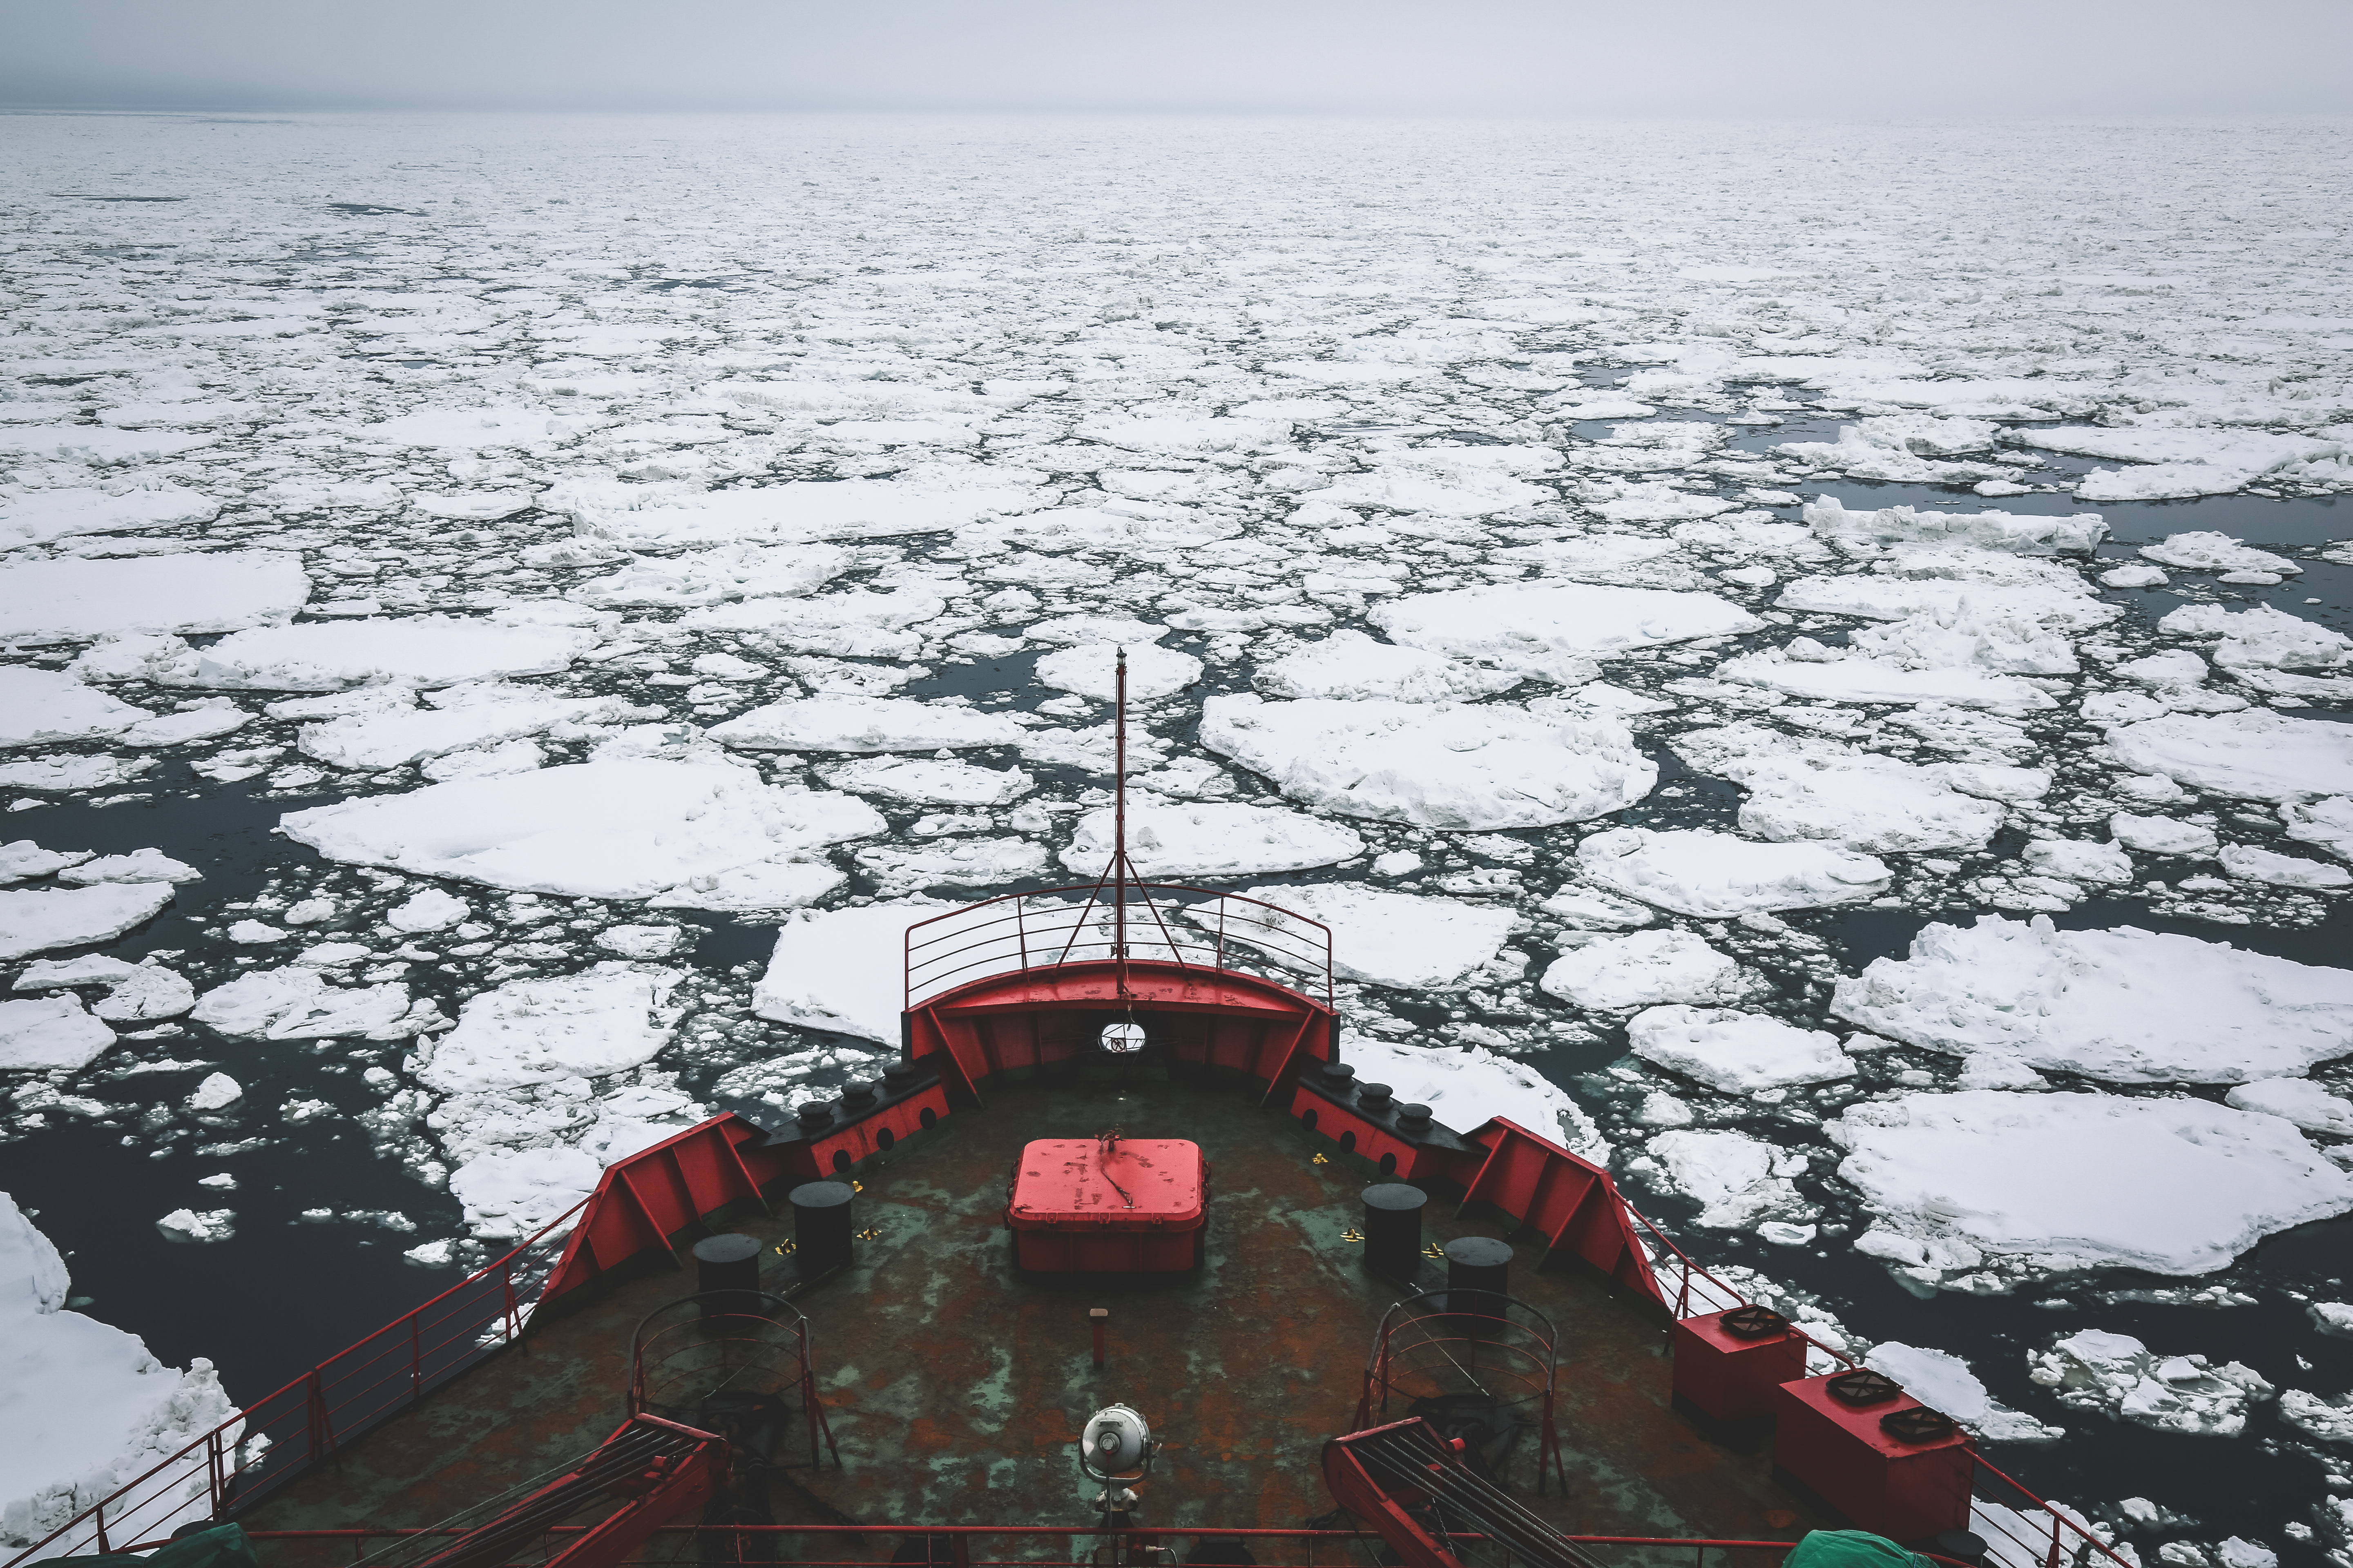
[[[1859,851],[1984,849],[2002,809],[1962,778],[1838,741],[1753,722],[1673,741],[1689,766],[1748,790],[1739,825],[1760,839],[1826,839]],[[1795,905],[1791,905],[1795,907]]]

